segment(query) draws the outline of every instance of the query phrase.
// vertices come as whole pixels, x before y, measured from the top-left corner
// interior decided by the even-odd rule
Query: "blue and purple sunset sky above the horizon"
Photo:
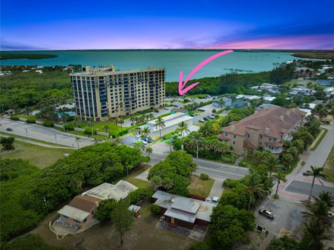
[[[1,49],[333,49],[333,10],[333,0],[1,0]]]

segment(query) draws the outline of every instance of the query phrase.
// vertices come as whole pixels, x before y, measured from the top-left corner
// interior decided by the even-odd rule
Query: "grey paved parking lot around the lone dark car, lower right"
[[[260,209],[271,210],[271,212],[275,214],[274,219],[271,220],[259,214],[258,211]],[[301,212],[304,210],[301,203],[288,200],[288,198],[285,197],[280,196],[279,200],[267,198],[255,211],[255,222],[258,226],[262,226],[271,233],[278,234],[282,228],[293,232],[301,224],[301,221],[303,221]]]

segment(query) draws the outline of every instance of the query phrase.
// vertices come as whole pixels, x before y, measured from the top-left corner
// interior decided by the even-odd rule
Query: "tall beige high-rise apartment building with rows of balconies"
[[[84,67],[70,74],[77,115],[83,120],[126,116],[165,103],[164,68],[115,70]]]

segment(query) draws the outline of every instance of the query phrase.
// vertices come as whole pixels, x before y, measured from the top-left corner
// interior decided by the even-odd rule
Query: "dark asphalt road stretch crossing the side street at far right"
[[[285,191],[308,196],[310,194],[311,186],[312,186],[312,183],[309,183],[309,182],[301,182],[299,180],[292,180],[292,182],[290,182],[289,185],[287,185],[287,187],[285,188]],[[322,191],[329,191],[334,195],[334,186],[328,187],[328,186],[322,186],[322,185],[315,184],[313,186],[312,195],[319,196],[319,193]]]

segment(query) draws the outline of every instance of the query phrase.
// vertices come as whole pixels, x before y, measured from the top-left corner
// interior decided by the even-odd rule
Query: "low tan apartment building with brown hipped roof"
[[[293,132],[303,126],[305,115],[306,112],[299,109],[268,107],[230,123],[217,137],[228,141],[237,155],[257,150],[260,146],[278,155],[283,151],[283,141],[292,140]]]

